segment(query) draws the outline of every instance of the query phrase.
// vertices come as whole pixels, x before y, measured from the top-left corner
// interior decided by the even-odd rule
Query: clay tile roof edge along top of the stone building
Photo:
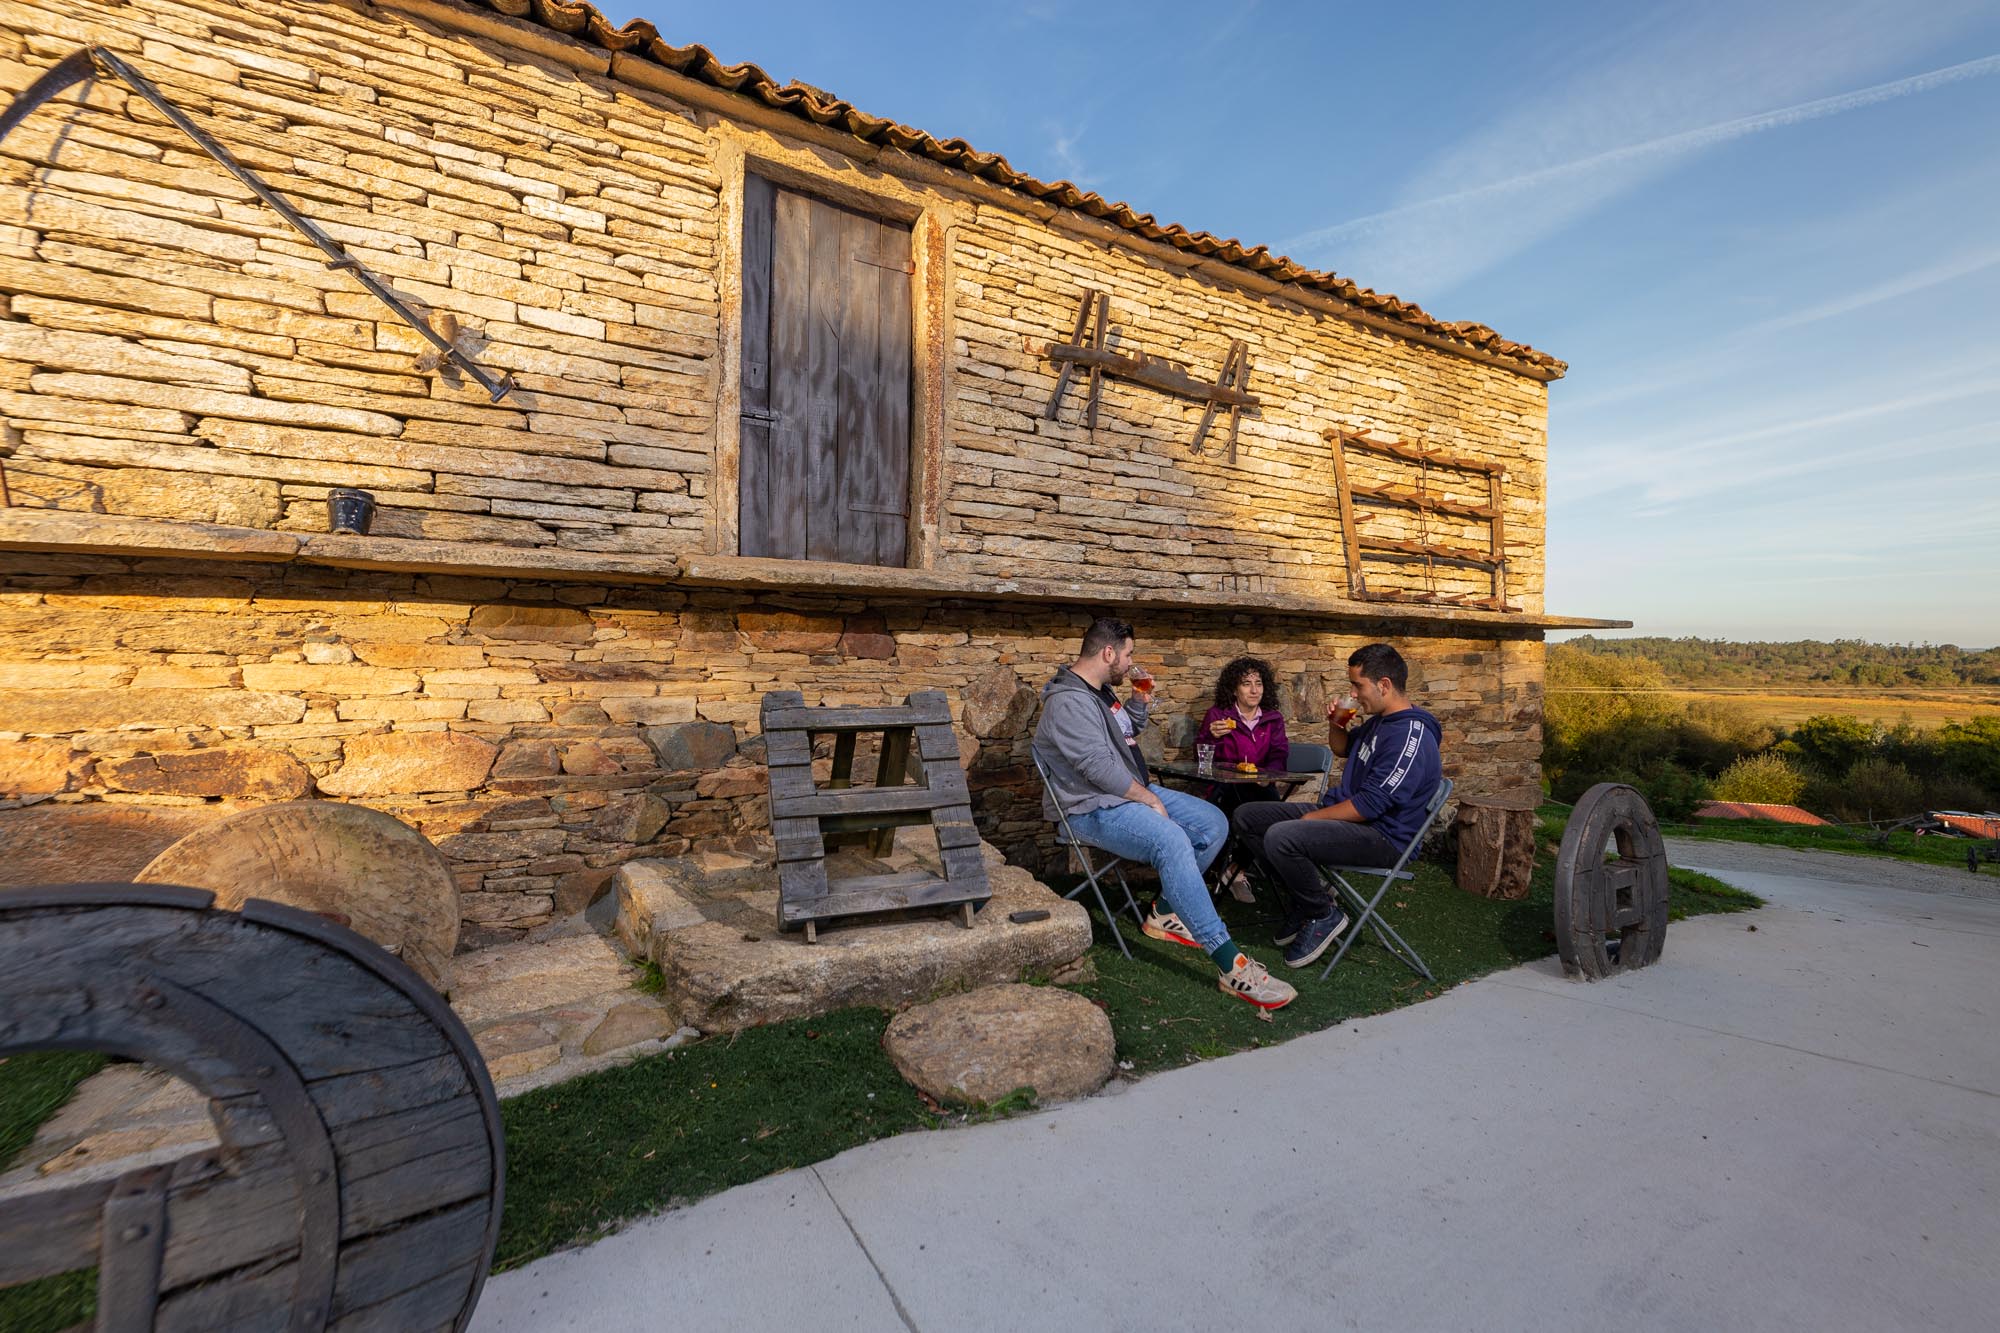
[[[1434,338],[1462,342],[1490,356],[1518,362],[1524,370],[1536,372],[1538,378],[1560,378],[1562,372],[1568,370],[1566,362],[1550,356],[1548,352],[1538,352],[1524,342],[1510,342],[1486,324],[1474,324],[1470,320],[1456,324],[1438,320],[1408,300],[1372,292],[1332,272],[1306,268],[1304,264],[1284,258],[1282,254],[1272,254],[1268,246],[1246,248],[1240,240],[1224,240],[1212,232],[1190,232],[1178,222],[1162,226],[1150,212],[1136,212],[1130,204],[1114,204],[1102,194],[1078,190],[1068,180],[1056,180],[1054,184],[1036,180],[1034,176],[1008,166],[1008,160],[1000,154],[980,152],[962,138],[940,140],[924,130],[914,130],[906,124],[896,124],[894,120],[870,116],[850,102],[842,102],[832,94],[796,80],[780,86],[778,80],[754,64],[722,64],[706,46],[674,46],[644,18],[634,18],[624,28],[614,28],[596,6],[570,0],[462,2],[494,10],[496,14],[506,14],[508,18],[524,18],[542,24],[544,28],[588,42],[612,54],[622,52],[644,56],[666,66],[668,70],[674,70],[676,74],[746,98],[756,98],[758,102],[790,112],[800,120],[844,130],[846,134],[870,144],[888,144],[904,152],[926,156],[932,162],[942,162],[944,166],[970,172],[1010,190],[1020,190],[1022,194],[1030,194],[1050,204],[1060,204],[1062,208],[1074,208],[1092,218],[1102,218],[1148,240],[1162,240],[1176,250],[1190,250],[1206,258],[1222,260],[1224,264],[1236,264],[1238,268],[1264,274],[1274,282],[1294,282],[1298,286],[1328,292],[1330,296],[1358,306],[1360,310],[1370,310],[1382,318],[1396,320],[1398,324],[1408,324],[1410,328],[1422,330]]]

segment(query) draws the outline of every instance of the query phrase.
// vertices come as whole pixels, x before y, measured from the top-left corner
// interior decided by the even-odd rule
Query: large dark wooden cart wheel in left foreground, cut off
[[[0,1201],[0,1287],[98,1267],[98,1329],[462,1329],[500,1227],[492,1081],[360,935],[158,885],[0,891],[0,1055],[108,1051],[220,1149]]]

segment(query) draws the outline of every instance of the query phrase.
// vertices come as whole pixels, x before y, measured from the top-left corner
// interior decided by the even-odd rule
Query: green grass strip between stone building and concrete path
[[[1758,905],[1750,895],[1688,871],[1674,871],[1672,885],[1674,919]],[[1460,893],[1450,873],[1432,863],[1420,865],[1418,879],[1384,903],[1390,921],[1436,971],[1436,983],[1362,941],[1324,985],[1318,969],[1286,973],[1300,987],[1300,999],[1266,1023],[1252,1007],[1216,991],[1214,969],[1198,953],[1148,941],[1128,923],[1132,959],[1118,955],[1100,925],[1100,943],[1092,949],[1098,979],[1074,989],[1110,1015],[1118,1059],[1134,1073],[1152,1073],[1398,1009],[1556,949],[1550,849],[1520,903]],[[1240,941],[1276,963],[1278,951],[1268,945],[1270,929],[1258,913],[1258,907],[1224,903],[1224,919]],[[500,1107],[508,1145],[506,1213],[494,1267],[528,1263],[626,1219],[824,1161],[858,1143],[1030,1105],[1010,1099],[976,1113],[928,1105],[882,1053],[886,1023],[888,1015],[876,1009],[778,1023],[508,1099]],[[0,1065],[0,1135],[12,1135],[0,1141],[26,1143],[34,1125],[74,1087],[68,1083],[58,1097],[52,1071],[44,1067],[32,1079],[44,1089],[40,1095],[16,1093],[16,1085],[30,1085],[22,1079],[22,1059]],[[66,1297],[58,1289],[64,1281],[70,1283]],[[34,1315],[30,1321],[14,1303],[28,1289],[14,1289],[0,1293],[0,1327],[54,1329],[88,1315],[90,1293],[76,1289],[74,1277],[38,1287],[42,1309],[58,1319]]]

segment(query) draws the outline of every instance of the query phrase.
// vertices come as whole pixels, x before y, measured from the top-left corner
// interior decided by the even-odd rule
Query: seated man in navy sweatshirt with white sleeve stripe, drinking
[[[1444,775],[1438,719],[1404,695],[1410,666],[1402,652],[1386,642],[1356,648],[1348,681],[1366,721],[1348,731],[1328,717],[1328,745],[1348,765],[1320,807],[1308,811],[1288,801],[1236,807],[1236,837],[1254,865],[1284,885],[1286,925],[1278,943],[1292,967],[1318,959],[1348,929],[1318,867],[1396,865]]]

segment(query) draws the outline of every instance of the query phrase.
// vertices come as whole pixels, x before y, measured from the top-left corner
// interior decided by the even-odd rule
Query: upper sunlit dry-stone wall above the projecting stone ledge
[[[326,490],[364,486],[388,536],[732,552],[726,194],[746,154],[822,172],[848,202],[890,190],[882,174],[358,0],[6,14],[0,92],[84,42],[110,46],[520,386],[490,402],[424,368],[414,330],[98,80],[86,108],[44,108],[0,146],[0,420],[18,504],[322,530]],[[1542,608],[1542,382],[1052,226],[1028,200],[936,180],[892,192],[926,214],[920,266],[948,330],[942,404],[914,440],[936,456],[918,496],[934,568],[1344,592],[1322,432],[1352,426],[1502,460],[1510,590]],[[1190,450],[1198,404],[1116,380],[1094,436],[1080,384],[1042,418],[1056,382],[1042,350],[1088,288],[1110,294],[1114,350],[1182,358],[1198,378],[1246,340],[1264,408],[1234,460],[1220,438]],[[1350,464],[1362,484],[1410,480],[1382,458]],[[1486,498],[1448,474],[1428,484]],[[1392,506],[1358,522],[1486,546],[1484,528]],[[1374,564],[1372,582],[1488,590],[1442,566]]]

